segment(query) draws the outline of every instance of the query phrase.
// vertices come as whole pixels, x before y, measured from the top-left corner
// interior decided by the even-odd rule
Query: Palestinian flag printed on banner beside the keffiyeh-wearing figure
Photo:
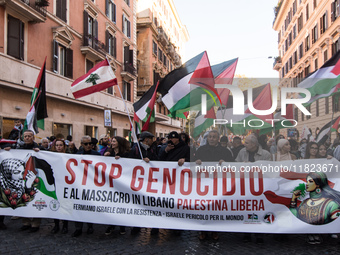
[[[26,178],[28,171],[32,171],[36,174],[39,180],[37,186],[38,190],[46,196],[57,199],[55,180],[50,164],[43,159],[31,156],[26,162],[24,179]]]

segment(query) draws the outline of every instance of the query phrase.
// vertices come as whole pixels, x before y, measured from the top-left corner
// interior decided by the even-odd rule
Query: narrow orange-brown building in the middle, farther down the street
[[[182,64],[184,44],[189,40],[189,34],[172,0],[138,0],[137,35],[137,96],[140,97]],[[149,130],[157,136],[183,130],[185,121],[168,117],[168,109],[160,97],[155,113],[156,121]]]

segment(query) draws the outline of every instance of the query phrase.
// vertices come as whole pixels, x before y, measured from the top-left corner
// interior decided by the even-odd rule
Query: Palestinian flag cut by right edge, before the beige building
[[[320,69],[299,83],[298,87],[305,88],[311,93],[311,99],[304,104],[305,106],[319,98],[329,97],[340,91],[340,51]],[[304,95],[301,96],[304,97]]]

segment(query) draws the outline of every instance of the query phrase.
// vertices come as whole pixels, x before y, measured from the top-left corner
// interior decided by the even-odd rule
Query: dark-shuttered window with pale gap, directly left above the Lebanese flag
[[[73,78],[73,50],[53,41],[53,72]]]

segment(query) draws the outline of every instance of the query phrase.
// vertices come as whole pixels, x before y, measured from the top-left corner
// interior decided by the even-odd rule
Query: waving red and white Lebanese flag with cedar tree
[[[73,96],[77,99],[117,84],[117,78],[113,73],[109,62],[105,59],[95,65],[87,74],[76,79],[71,84],[71,91]]]

